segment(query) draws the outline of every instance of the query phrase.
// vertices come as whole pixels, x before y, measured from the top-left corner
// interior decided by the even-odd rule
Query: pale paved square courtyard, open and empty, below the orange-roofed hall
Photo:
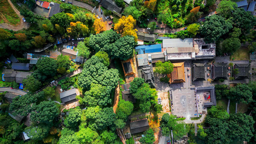
[[[196,117],[196,97],[195,90],[190,88],[172,90],[174,115],[186,118]]]

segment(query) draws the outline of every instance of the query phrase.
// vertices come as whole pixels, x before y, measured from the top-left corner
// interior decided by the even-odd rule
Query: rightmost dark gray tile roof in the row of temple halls
[[[238,74],[235,74],[235,79],[249,79],[249,64],[235,64],[238,69]]]

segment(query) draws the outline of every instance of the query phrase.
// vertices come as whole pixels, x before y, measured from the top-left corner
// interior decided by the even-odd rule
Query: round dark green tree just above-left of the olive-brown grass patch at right
[[[222,43],[223,52],[233,53],[241,47],[239,38],[227,38]]]

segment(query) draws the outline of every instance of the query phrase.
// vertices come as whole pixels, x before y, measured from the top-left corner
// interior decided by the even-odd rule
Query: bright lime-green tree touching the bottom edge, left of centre
[[[92,144],[94,140],[99,138],[99,134],[88,127],[81,128],[78,132],[76,132],[76,138],[80,144]]]

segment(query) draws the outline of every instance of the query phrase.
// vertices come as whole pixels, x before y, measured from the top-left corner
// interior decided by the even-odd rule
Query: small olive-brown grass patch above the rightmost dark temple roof
[[[241,47],[230,57],[231,60],[250,60],[249,49],[246,47]]]

